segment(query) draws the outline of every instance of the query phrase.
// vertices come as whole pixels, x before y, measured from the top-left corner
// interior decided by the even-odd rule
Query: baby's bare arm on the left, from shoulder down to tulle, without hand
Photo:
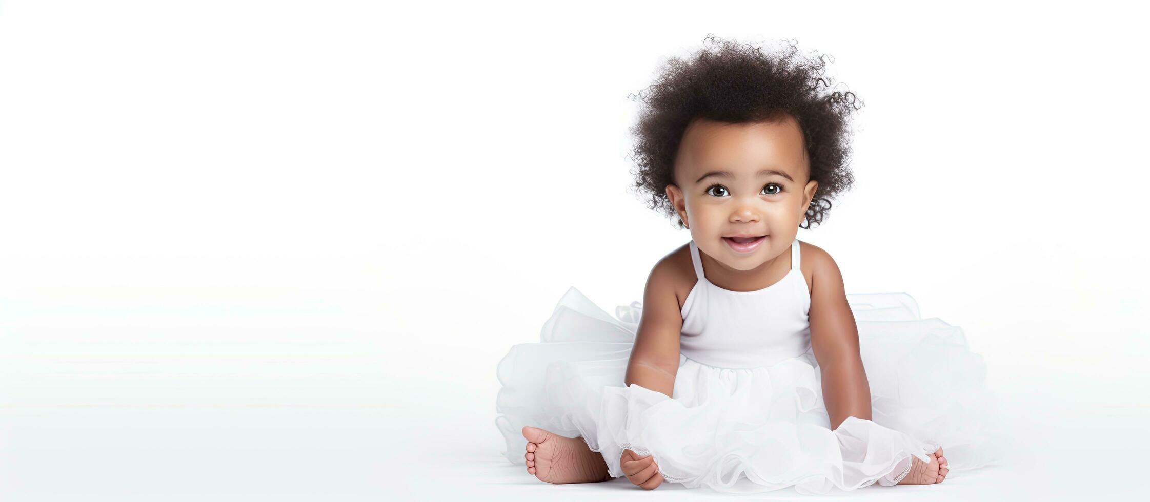
[[[683,317],[673,284],[674,271],[669,256],[651,269],[643,291],[643,310],[639,316],[635,346],[627,362],[626,385],[638,385],[673,396],[675,373],[678,372],[678,335]]]

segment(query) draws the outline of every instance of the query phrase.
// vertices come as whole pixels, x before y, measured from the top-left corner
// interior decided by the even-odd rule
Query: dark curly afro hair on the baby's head
[[[760,47],[708,34],[704,45],[712,47],[695,53],[690,61],[666,61],[656,83],[637,94],[644,106],[638,124],[630,128],[636,139],[631,156],[638,165],[637,172],[631,171],[634,187],[650,196],[650,209],[684,227],[666,187],[675,183],[675,156],[692,119],[738,124],[777,122],[790,115],[803,130],[810,178],[819,182],[799,227],[822,223],[830,199],[854,182],[848,168],[848,119],[861,100],[849,91],[830,92],[823,57],[806,57],[795,44],[790,40],[789,49],[764,53]]]

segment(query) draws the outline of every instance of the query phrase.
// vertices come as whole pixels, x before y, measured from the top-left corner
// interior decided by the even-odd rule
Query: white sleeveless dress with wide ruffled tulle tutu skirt
[[[798,240],[791,272],[752,292],[711,284],[693,241],[690,250],[698,281],[681,311],[673,397],[623,384],[642,304],[613,317],[573,287],[540,341],[512,346],[499,362],[496,425],[508,461],[523,464],[524,425],[583,437],[612,477],[624,476],[619,457],[628,448],[652,455],[666,481],[726,493],[889,484],[903,461],[929,461],[937,446],[948,478],[1000,458],[1005,438],[986,365],[961,329],[920,318],[905,293],[848,294],[873,419],[848,417],[833,431]]]

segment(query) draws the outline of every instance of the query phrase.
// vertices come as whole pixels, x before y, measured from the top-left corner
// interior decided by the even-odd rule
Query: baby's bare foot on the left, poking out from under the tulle
[[[539,427],[523,427],[527,438],[527,472],[554,485],[611,479],[603,455],[591,451],[580,438],[565,438]]]

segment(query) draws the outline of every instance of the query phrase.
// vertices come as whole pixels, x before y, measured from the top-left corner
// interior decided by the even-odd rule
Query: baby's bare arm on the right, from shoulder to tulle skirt
[[[871,419],[871,384],[859,354],[858,326],[846,302],[838,265],[822,248],[803,242],[800,263],[811,264],[811,347],[822,376],[830,428],[846,417]]]

